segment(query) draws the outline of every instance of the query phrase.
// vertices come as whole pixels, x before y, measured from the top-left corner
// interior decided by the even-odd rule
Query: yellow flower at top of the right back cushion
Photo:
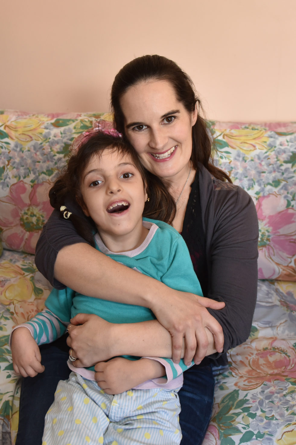
[[[246,154],[253,150],[266,150],[268,137],[264,129],[232,129],[223,134],[229,147]]]

